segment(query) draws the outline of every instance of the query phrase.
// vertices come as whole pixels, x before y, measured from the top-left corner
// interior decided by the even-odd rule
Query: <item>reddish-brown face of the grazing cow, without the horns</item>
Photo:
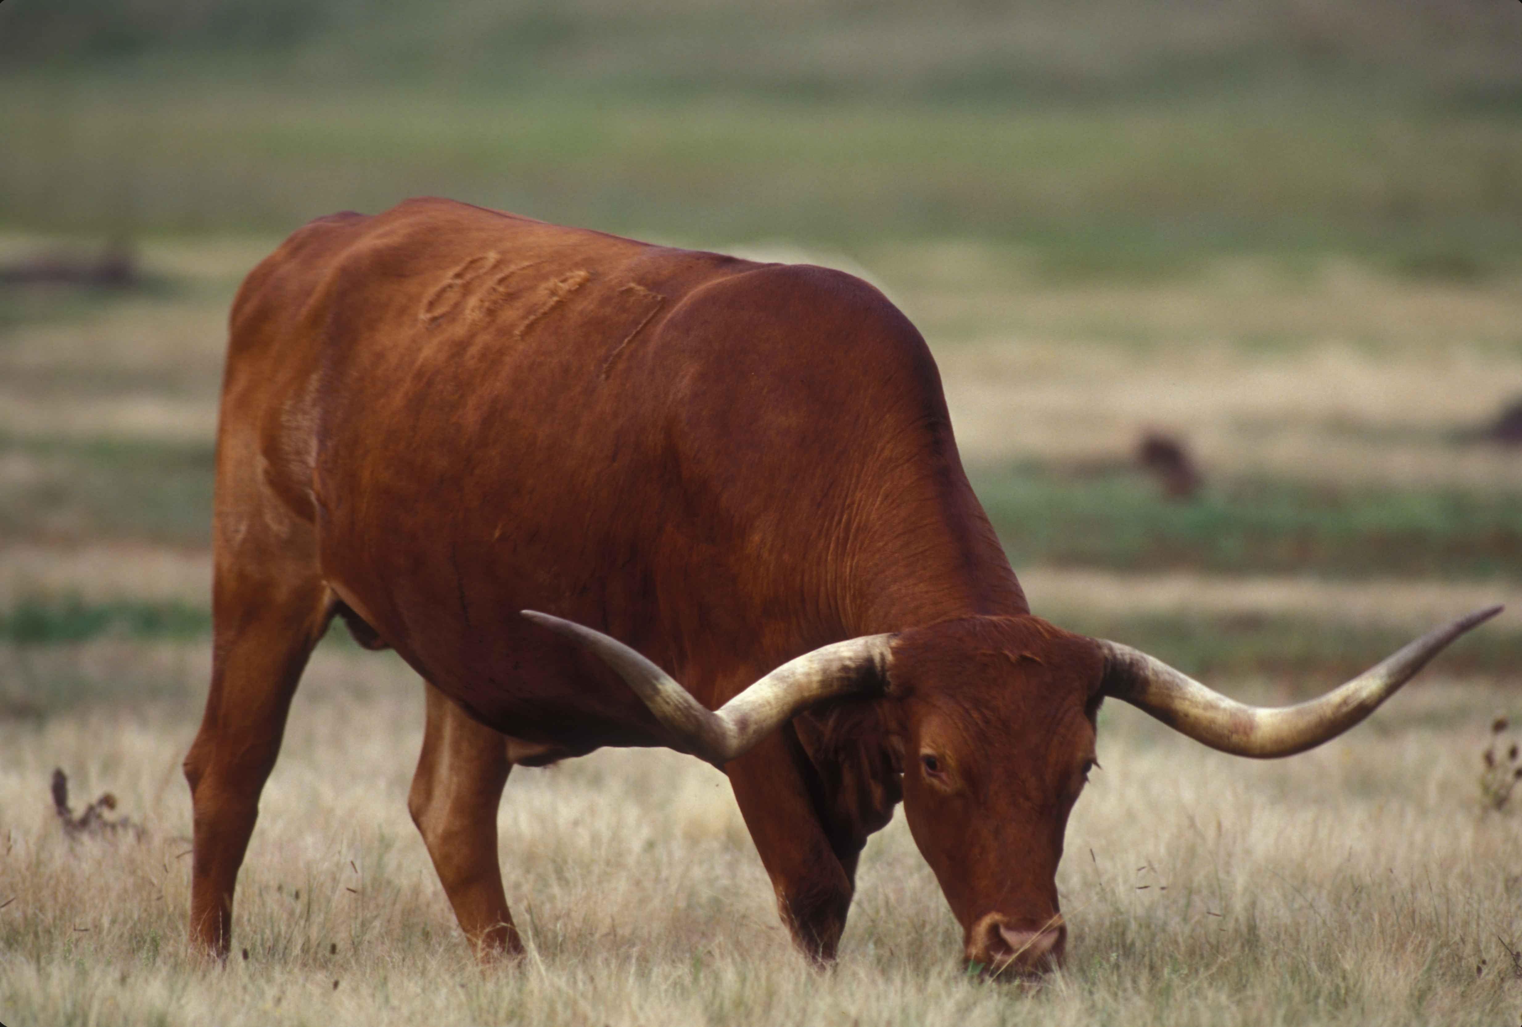
[[[1046,621],[963,618],[904,631],[883,703],[904,814],[970,963],[1062,959],[1062,835],[1094,765],[1103,657]]]

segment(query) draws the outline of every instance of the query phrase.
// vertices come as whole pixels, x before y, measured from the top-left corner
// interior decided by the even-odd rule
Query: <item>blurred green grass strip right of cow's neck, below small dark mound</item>
[[[1131,470],[1033,463],[973,485],[1017,569],[1522,577],[1522,496],[1504,491],[1243,478],[1175,502]]]

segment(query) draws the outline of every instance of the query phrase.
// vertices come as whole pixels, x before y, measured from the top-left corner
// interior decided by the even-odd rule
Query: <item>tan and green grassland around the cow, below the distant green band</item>
[[[3,158],[0,158],[3,160]],[[49,240],[15,231],[0,262]],[[960,972],[903,820],[869,846],[840,965],[791,951],[723,779],[670,753],[519,770],[499,812],[519,968],[470,963],[405,796],[422,701],[326,641],[240,879],[234,957],[184,951],[222,323],[268,237],[142,243],[125,294],[0,292],[0,1019],[88,1022],[1498,1024],[1522,1015],[1514,613],[1352,735],[1250,764],[1129,707],[1059,873],[1070,962]],[[752,251],[756,251],[753,243]],[[769,253],[869,274],[925,329],[974,484],[1033,607],[1245,698],[1335,683],[1440,619],[1522,607],[1522,286],[1216,254],[1058,280],[1005,242]],[[1145,428],[1205,488],[1158,494]],[[1510,739],[1514,732],[1504,732]],[[110,790],[132,837],[68,840]],[[244,959],[244,951],[248,955]]]

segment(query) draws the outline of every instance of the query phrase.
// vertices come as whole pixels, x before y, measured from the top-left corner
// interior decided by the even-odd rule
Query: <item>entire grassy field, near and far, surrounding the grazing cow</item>
[[[6,1024],[1522,1016],[1492,730],[1522,718],[1522,446],[1490,431],[1522,400],[1522,8],[9,0],[0,96]],[[420,689],[335,633],[234,959],[198,968],[178,762],[227,306],[306,219],[422,193],[866,275],[1033,609],[1231,694],[1511,610],[1291,761],[1106,709],[1036,994],[959,974],[901,820],[807,969],[721,777],[645,752],[508,782],[531,957],[476,972],[405,809]],[[1137,466],[1149,431],[1192,496]],[[65,838],[55,767],[143,840]]]

